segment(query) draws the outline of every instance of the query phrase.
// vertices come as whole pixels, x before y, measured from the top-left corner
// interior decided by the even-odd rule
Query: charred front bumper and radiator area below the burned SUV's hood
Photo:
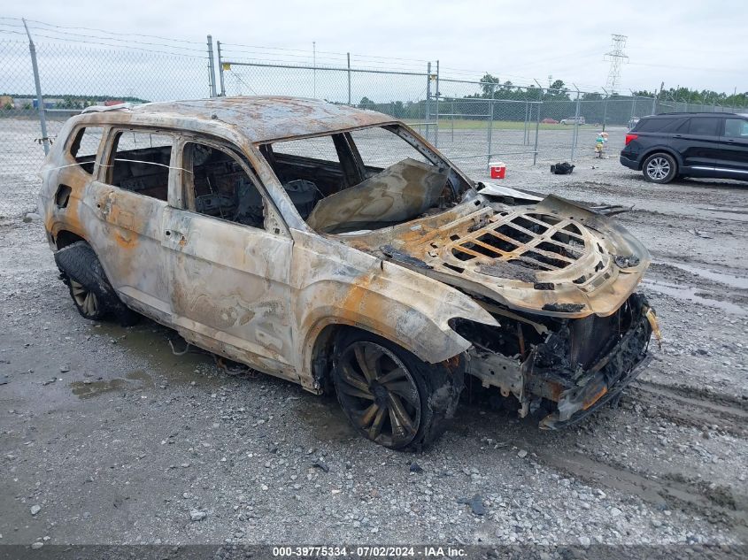
[[[506,318],[502,318],[506,321]],[[552,326],[544,340],[512,357],[475,344],[468,372],[520,402],[520,416],[551,410],[542,429],[559,429],[610,402],[649,361],[656,318],[644,295],[633,294],[608,318],[590,316]]]

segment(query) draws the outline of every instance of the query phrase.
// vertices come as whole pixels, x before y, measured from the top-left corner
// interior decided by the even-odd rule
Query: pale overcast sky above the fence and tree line
[[[348,51],[354,65],[357,55],[439,59],[442,75],[474,71],[479,78],[489,71],[501,81],[527,84],[536,78],[546,84],[552,74],[582,89],[605,86],[604,53],[611,34],[618,33],[628,35],[621,93],[653,90],[661,81],[666,88],[748,91],[746,0],[78,0],[74,7],[41,0],[5,3],[2,12],[59,26],[195,41],[211,33],[225,43],[289,49],[280,52],[299,62],[305,62],[304,51],[311,58],[316,42],[322,61],[335,59],[325,53]]]

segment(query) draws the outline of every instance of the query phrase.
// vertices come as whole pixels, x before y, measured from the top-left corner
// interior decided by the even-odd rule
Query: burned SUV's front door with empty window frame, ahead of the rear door
[[[265,207],[264,228],[188,207],[184,152],[190,142],[221,150],[242,167]],[[293,238],[252,161],[230,140],[183,132],[164,219],[172,322],[187,341],[253,369],[298,382],[291,260]],[[220,274],[216,272],[220,271]],[[251,293],[258,297],[251,299]]]

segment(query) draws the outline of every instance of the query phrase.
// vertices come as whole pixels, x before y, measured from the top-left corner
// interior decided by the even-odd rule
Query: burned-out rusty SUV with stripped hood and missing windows
[[[281,97],[84,111],[42,168],[81,315],[143,314],[313,393],[393,449],[468,379],[556,428],[636,376],[644,246],[557,196],[484,185],[374,111]]]

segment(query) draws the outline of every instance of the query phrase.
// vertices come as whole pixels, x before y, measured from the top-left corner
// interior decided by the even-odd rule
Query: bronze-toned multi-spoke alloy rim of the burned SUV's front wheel
[[[386,447],[413,441],[420,426],[418,386],[405,364],[376,342],[354,342],[339,361],[343,408],[370,440]]]

